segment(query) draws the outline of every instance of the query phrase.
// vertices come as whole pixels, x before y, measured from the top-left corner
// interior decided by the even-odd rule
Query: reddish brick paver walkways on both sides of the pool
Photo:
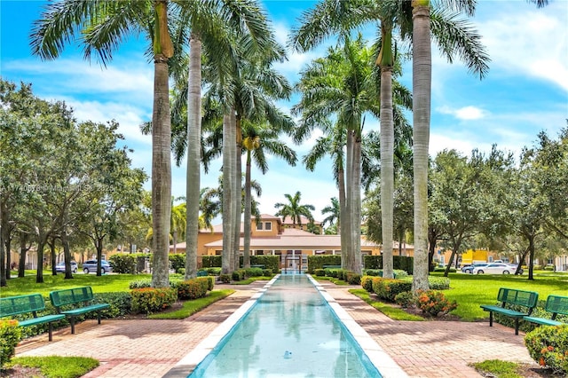
[[[242,303],[264,286],[231,286],[237,292],[183,320],[96,320],[20,343],[16,356],[85,356],[100,366],[87,378],[162,377]],[[388,352],[411,377],[479,377],[470,362],[499,358],[533,364],[523,335],[488,322],[396,321],[347,292],[324,283],[327,293]],[[216,288],[219,288],[217,286]],[[355,377],[354,377],[355,378]]]

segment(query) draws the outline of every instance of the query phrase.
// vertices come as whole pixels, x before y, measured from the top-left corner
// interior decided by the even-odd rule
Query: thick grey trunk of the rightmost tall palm
[[[414,279],[413,290],[428,290],[428,147],[432,51],[430,2],[413,0]]]

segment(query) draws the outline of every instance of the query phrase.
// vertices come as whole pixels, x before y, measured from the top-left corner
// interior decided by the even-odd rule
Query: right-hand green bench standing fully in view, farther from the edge
[[[497,301],[501,305],[482,304],[480,307],[483,311],[489,311],[489,327],[493,327],[493,312],[515,319],[515,335],[518,335],[518,320],[530,316],[538,300],[539,293],[534,291],[501,287],[497,295]],[[507,308],[508,305],[524,307],[525,311],[511,310]]]

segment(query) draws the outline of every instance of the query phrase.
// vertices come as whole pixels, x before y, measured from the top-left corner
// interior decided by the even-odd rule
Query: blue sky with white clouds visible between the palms
[[[134,149],[134,166],[151,172],[150,138],[138,129],[152,114],[154,71],[143,57],[144,43],[130,38],[106,69],[96,60],[84,61],[74,45],[61,58],[42,62],[31,56],[28,35],[43,4],[0,0],[0,74],[13,82],[32,83],[40,98],[65,100],[80,121],[117,120],[126,145]],[[272,0],[263,4],[284,43],[301,12],[314,3]],[[430,154],[444,148],[470,154],[473,148],[488,151],[493,144],[518,154],[524,146],[533,145],[540,130],[556,136],[568,119],[568,1],[551,0],[543,9],[522,0],[479,1],[472,22],[483,35],[491,69],[479,81],[461,62],[450,65],[438,51],[433,52]],[[321,51],[323,47],[306,54],[289,52],[288,62],[278,68],[295,83],[298,72]],[[401,81],[411,86],[410,62]],[[279,105],[288,111],[294,102]],[[367,117],[366,130],[376,128],[378,122]],[[294,148],[301,157],[310,146],[307,141]],[[216,186],[219,168],[216,164],[208,176],[202,176],[201,185]],[[172,177],[173,194],[185,195],[185,165],[174,166]],[[274,214],[274,203],[284,201],[285,193],[301,191],[303,203],[314,205],[314,217],[323,219],[321,209],[337,195],[327,161],[308,172],[301,165],[290,168],[273,159],[265,176],[253,172],[253,177],[263,187],[259,201],[264,213]]]

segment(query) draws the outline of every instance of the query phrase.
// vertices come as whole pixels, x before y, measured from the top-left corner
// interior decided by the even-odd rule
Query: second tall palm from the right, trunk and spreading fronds
[[[414,0],[411,3],[406,1],[383,1],[375,2],[370,0],[344,0],[336,2],[335,0],[324,0],[316,5],[312,12],[304,15],[304,25],[295,30],[292,42],[298,51],[304,51],[320,43],[328,35],[340,33],[344,35],[353,28],[357,28],[363,23],[369,21],[380,21],[381,23],[381,52],[377,59],[377,64],[381,67],[382,72],[382,105],[381,105],[381,139],[382,139],[382,181],[384,186],[381,201],[383,202],[383,239],[392,240],[392,190],[394,188],[392,177],[392,109],[390,107],[391,98],[383,91],[389,90],[390,71],[393,63],[391,51],[391,33],[393,28],[398,28],[403,39],[412,40],[412,22],[410,19],[411,5],[429,2],[427,0]],[[449,1],[454,7],[465,7],[467,11],[472,10],[472,3],[469,1]],[[427,16],[430,14],[428,13]],[[469,68],[478,70],[483,73],[486,70],[485,52],[478,43],[478,36],[473,33],[462,21],[455,21],[455,14],[438,12],[435,18],[439,32],[438,43],[442,47],[448,58],[451,60],[452,55],[457,51],[466,60],[469,59]],[[426,22],[429,19],[426,18]],[[459,34],[455,33],[460,32]],[[452,38],[448,38],[451,35]],[[428,35],[430,38],[430,34]],[[415,72],[414,72],[415,74]],[[384,85],[384,87],[383,87]],[[390,101],[389,101],[390,99]],[[386,102],[385,104],[383,104]],[[389,108],[390,107],[390,108]],[[385,114],[386,113],[386,114]],[[414,114],[415,116],[415,114]],[[414,118],[415,119],[415,118]],[[384,132],[384,136],[383,136]],[[384,145],[384,146],[383,146]],[[385,161],[383,161],[383,159]],[[388,192],[388,193],[387,193]],[[383,198],[384,196],[384,198]],[[383,248],[389,256],[385,256],[383,262],[386,261],[385,275],[390,275],[390,262],[392,247],[391,243],[383,240]],[[385,244],[389,243],[388,246]],[[416,260],[414,260],[416,262]],[[421,263],[422,264],[422,263]]]

